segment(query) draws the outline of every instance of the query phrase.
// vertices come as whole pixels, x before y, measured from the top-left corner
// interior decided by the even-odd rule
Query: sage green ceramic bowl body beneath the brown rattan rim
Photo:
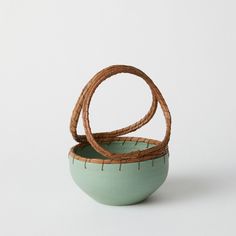
[[[143,150],[147,144],[115,141],[102,146],[111,152],[124,153]],[[86,158],[106,159],[90,145],[77,146],[74,152]],[[70,154],[69,162],[75,183],[90,197],[107,205],[130,205],[145,200],[162,185],[168,173],[169,155],[142,162],[102,165],[73,159]]]

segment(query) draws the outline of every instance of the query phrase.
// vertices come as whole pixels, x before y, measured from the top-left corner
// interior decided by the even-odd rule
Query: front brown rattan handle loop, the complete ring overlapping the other
[[[161,109],[164,113],[165,122],[166,122],[166,133],[164,139],[160,142],[159,145],[142,150],[142,151],[134,151],[130,153],[111,153],[110,151],[104,149],[102,146],[99,145],[99,143],[96,141],[96,138],[93,136],[91,127],[89,124],[89,105],[91,102],[91,98],[93,96],[93,93],[95,92],[96,88],[107,78],[111,77],[112,75],[116,75],[118,73],[130,73],[133,75],[136,75],[138,77],[141,77],[146,81],[146,83],[149,85],[154,97],[161,105]],[[145,155],[151,155],[159,153],[163,153],[163,150],[166,149],[169,138],[170,138],[170,132],[171,132],[171,116],[168,109],[168,106],[161,95],[159,89],[155,86],[153,81],[141,70],[132,67],[132,66],[126,66],[126,65],[115,65],[110,66],[106,69],[103,69],[101,72],[96,74],[93,78],[93,84],[87,89],[86,96],[84,98],[83,103],[83,124],[85,129],[85,134],[87,137],[88,142],[91,144],[91,146],[100,154],[103,156],[106,156],[110,159],[127,159],[127,158],[142,158]],[[141,123],[141,126],[143,124]],[[105,137],[104,137],[105,138]]]

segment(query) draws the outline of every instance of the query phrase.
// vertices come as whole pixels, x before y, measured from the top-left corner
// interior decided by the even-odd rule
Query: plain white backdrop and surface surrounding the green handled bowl
[[[0,235],[236,235],[235,8],[229,0],[1,0]],[[67,160],[77,97],[112,64],[146,72],[173,117],[167,181],[127,207],[87,197]],[[135,122],[150,106],[143,81],[118,78],[92,100],[94,131]],[[136,135],[163,132],[159,109]]]

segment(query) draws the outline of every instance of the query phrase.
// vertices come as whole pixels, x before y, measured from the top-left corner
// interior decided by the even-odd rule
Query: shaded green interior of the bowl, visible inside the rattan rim
[[[132,151],[144,150],[150,147],[154,147],[155,144],[148,144],[145,142],[136,142],[136,141],[113,141],[111,143],[101,143],[103,148],[107,149],[110,152],[114,153],[128,153]],[[76,146],[74,152],[82,157],[86,158],[96,158],[96,159],[108,159],[98,153],[94,148],[87,144],[84,147]]]

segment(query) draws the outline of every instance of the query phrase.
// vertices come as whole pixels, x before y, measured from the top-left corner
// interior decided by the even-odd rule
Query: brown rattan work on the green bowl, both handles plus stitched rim
[[[152,105],[148,111],[148,113],[140,119],[138,122],[122,128],[118,130],[114,130],[111,132],[102,132],[102,133],[92,133],[90,123],[89,123],[89,105],[91,102],[91,98],[96,90],[96,88],[106,79],[109,77],[116,75],[118,73],[130,73],[142,78],[150,87],[152,92]],[[166,133],[165,137],[162,141],[148,139],[148,138],[137,138],[137,137],[119,137],[124,134],[128,134],[137,130],[138,128],[145,125],[147,122],[151,120],[154,116],[157,108],[157,104],[160,104],[161,109],[163,111],[166,123]],[[82,112],[83,118],[83,125],[85,130],[85,135],[78,135],[77,134],[77,125],[80,114]],[[86,144],[90,144],[98,153],[102,154],[103,156],[107,157],[107,160],[101,160],[96,158],[89,158],[89,162],[94,163],[130,163],[130,162],[138,162],[144,160],[150,160],[155,157],[164,155],[168,152],[168,142],[170,139],[171,133],[171,115],[168,109],[168,106],[153,81],[141,70],[127,65],[113,65],[107,67],[100,72],[98,72],[84,87],[72,113],[71,123],[70,123],[70,130],[73,138],[79,142],[78,145],[73,147],[70,150],[70,155],[73,158],[81,160],[81,161],[88,161],[88,158],[81,157],[76,154],[76,148],[81,147]],[[134,151],[130,153],[111,153],[110,151],[104,149],[100,143],[101,142],[112,142],[112,141],[137,141],[137,142],[146,142],[150,144],[154,144],[154,147],[147,148],[142,151]]]

